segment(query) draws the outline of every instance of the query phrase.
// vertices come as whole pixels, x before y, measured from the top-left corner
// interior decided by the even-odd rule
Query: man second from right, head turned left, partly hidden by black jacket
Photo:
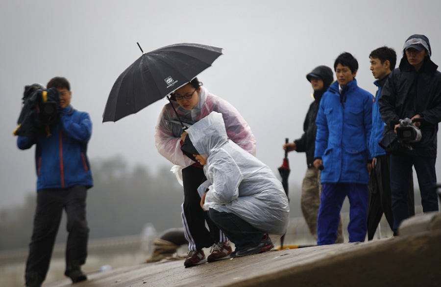
[[[380,117],[378,99],[389,74],[395,69],[396,53],[392,48],[384,46],[370,52],[369,58],[370,71],[377,79],[374,84],[378,87],[372,104],[372,132],[369,140],[369,152],[373,158],[369,178],[368,240],[372,240],[383,213],[391,230],[393,229],[389,154],[386,154],[386,151],[378,144],[383,138],[385,126]],[[412,177],[411,171],[409,173],[409,212],[415,215]]]

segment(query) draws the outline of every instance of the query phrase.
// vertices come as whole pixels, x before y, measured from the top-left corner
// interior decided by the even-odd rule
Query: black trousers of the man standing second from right
[[[390,157],[376,157],[375,166],[369,178],[368,240],[372,240],[383,213],[393,230]],[[409,173],[409,214],[415,215],[414,179],[412,169]]]

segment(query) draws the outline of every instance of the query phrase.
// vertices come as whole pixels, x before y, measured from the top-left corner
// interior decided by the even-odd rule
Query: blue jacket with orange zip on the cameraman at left
[[[94,185],[86,155],[91,134],[89,114],[68,106],[63,109],[60,122],[51,130],[50,136],[18,137],[17,146],[21,150],[37,145],[37,190]]]

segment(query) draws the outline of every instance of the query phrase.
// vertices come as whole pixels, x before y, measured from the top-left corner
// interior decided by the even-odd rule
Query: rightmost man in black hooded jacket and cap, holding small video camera
[[[387,79],[379,99],[381,118],[390,129],[403,129],[406,118],[414,121],[421,138],[405,139],[406,133],[397,132],[397,150],[391,155],[391,192],[393,232],[398,235],[400,223],[410,217],[408,208],[409,178],[415,167],[424,212],[438,210],[438,198],[433,184],[437,182],[435,160],[437,156],[438,123],[441,121],[441,73],[432,62],[429,39],[424,35],[410,36],[403,47],[399,68]],[[415,122],[415,121],[418,122]],[[397,130],[398,128],[398,130]],[[414,129],[414,127],[410,127]]]

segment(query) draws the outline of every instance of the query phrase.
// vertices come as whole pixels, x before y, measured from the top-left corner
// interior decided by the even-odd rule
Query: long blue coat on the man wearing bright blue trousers
[[[355,79],[344,86],[342,96],[337,81],[323,94],[316,119],[315,152],[315,157],[323,160],[322,183],[368,183],[372,100]]]

